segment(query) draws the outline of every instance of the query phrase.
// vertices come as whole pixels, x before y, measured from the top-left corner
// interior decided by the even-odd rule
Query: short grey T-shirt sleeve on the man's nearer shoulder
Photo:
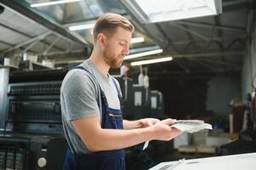
[[[89,73],[75,71],[61,89],[67,120],[99,116],[97,86]]]

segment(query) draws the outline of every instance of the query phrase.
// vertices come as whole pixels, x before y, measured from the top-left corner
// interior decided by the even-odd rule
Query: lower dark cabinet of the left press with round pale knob
[[[61,169],[67,144],[61,135],[0,133],[0,169]]]

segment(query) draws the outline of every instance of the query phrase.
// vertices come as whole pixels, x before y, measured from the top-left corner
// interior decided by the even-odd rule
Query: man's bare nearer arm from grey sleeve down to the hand
[[[147,120],[141,119],[140,122],[148,124]],[[149,120],[149,122],[151,121]],[[102,128],[99,116],[74,120],[72,123],[90,151],[118,150],[153,139],[170,140],[181,133],[181,131],[170,127],[173,123],[172,119],[166,119],[155,124],[154,122],[151,123],[154,126],[126,130]],[[137,125],[137,123],[133,125]]]

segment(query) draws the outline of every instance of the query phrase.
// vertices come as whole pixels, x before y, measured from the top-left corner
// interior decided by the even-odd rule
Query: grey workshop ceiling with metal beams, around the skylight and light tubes
[[[93,23],[101,14],[122,14],[135,25],[131,54],[162,48],[162,54],[138,59],[172,56],[172,62],[148,65],[152,76],[190,72],[240,72],[247,53],[249,33],[255,17],[253,0],[223,0],[222,14],[188,20],[142,24],[122,0],[82,0],[32,8],[33,0],[1,0],[0,60],[6,56],[37,54],[55,59],[55,64],[80,62],[90,56],[90,30],[70,31],[70,26]],[[48,2],[40,0],[37,2]]]

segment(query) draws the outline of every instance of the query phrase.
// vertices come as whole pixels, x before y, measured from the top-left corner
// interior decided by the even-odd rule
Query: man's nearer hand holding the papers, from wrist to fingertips
[[[183,131],[177,128],[170,127],[172,123],[176,122],[175,119],[165,119],[161,122],[157,122],[152,126],[154,131],[154,139],[156,140],[171,140],[177,137],[177,135],[183,133]]]

